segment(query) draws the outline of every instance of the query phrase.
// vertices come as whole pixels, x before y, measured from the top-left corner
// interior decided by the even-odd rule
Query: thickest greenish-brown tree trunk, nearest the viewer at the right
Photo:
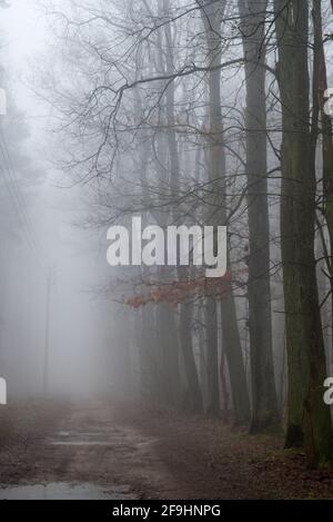
[[[315,140],[310,130],[309,4],[275,0],[282,104],[281,236],[286,315],[286,445],[304,442],[310,465],[332,457],[330,408],[323,402],[325,351],[314,256]]]

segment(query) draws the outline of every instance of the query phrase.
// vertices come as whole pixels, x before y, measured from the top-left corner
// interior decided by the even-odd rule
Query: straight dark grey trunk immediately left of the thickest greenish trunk
[[[252,382],[251,433],[279,422],[270,285],[265,17],[268,0],[239,0],[246,79],[246,183],[250,232],[249,329]]]

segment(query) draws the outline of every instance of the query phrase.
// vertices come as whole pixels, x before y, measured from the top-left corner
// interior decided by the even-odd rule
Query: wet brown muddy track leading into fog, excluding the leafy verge
[[[54,432],[0,452],[0,483],[90,483],[119,499],[154,496],[172,477],[153,446],[150,436],[117,422],[104,404],[73,407]]]

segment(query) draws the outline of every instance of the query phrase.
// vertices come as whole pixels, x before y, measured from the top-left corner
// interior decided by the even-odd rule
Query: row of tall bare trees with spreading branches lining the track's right
[[[194,266],[129,268],[121,280],[119,269],[110,284],[137,309],[142,393],[195,413],[232,410],[251,433],[285,418],[286,446],[325,465],[331,3],[52,3],[43,1],[64,46],[61,66],[43,67],[43,88],[70,151],[61,167],[89,181],[88,223],[140,214],[163,228],[229,229],[216,285]]]

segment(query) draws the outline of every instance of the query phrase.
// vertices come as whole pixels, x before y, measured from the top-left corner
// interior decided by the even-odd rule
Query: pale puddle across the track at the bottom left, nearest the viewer
[[[0,500],[131,500],[128,486],[98,487],[93,484],[54,482],[47,485],[0,484]]]

